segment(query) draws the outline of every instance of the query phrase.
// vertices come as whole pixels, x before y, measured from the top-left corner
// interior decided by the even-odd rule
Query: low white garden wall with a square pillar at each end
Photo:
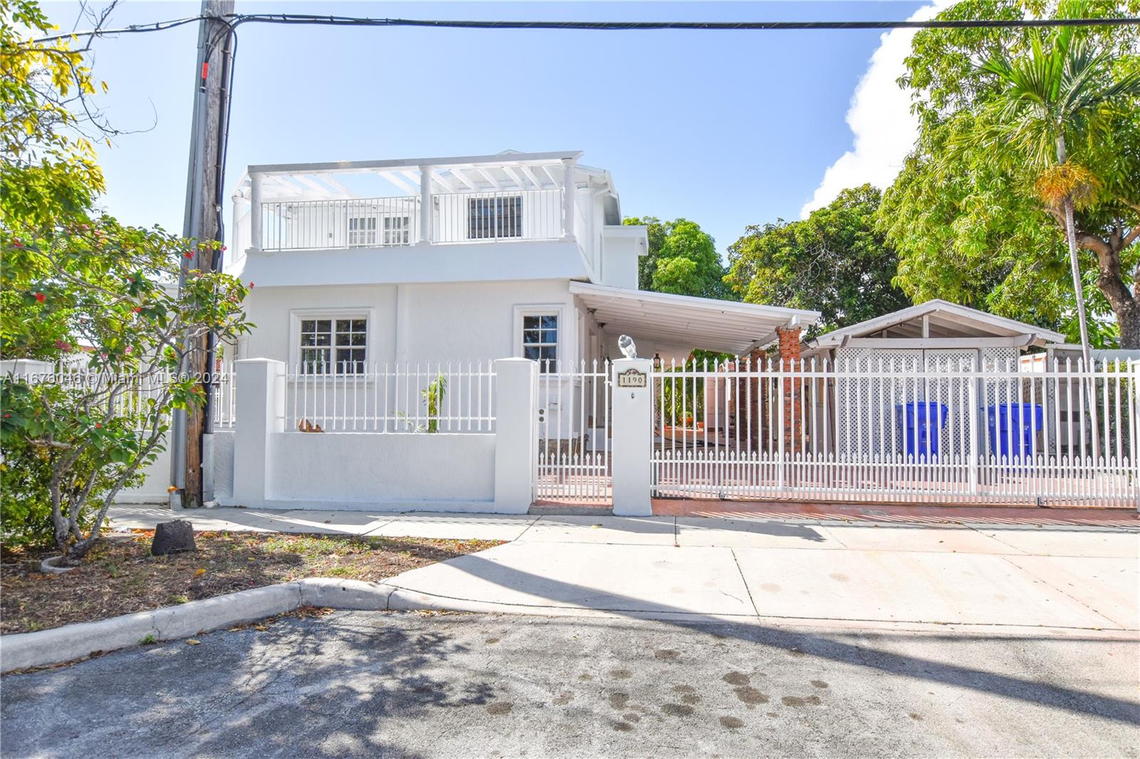
[[[490,434],[300,432],[285,425],[285,365],[241,360],[233,489],[225,493],[215,479],[218,500],[258,508],[526,513],[537,365],[500,359],[494,366],[498,415]]]

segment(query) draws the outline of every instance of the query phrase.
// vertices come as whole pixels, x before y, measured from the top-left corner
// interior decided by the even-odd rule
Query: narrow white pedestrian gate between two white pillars
[[[609,361],[539,364],[536,501],[611,503],[610,397]]]

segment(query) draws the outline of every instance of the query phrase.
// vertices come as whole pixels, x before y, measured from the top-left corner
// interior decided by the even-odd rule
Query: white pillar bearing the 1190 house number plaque
[[[613,424],[610,465],[613,472],[613,513],[651,516],[653,393],[650,359],[618,359],[612,366]],[[640,375],[640,376],[638,376]]]

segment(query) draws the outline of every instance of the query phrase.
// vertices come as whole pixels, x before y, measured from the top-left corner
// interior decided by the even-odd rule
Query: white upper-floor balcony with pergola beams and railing
[[[579,165],[578,155],[250,166],[235,195],[238,250],[584,244],[591,203],[602,189],[612,194],[612,182],[606,172]]]

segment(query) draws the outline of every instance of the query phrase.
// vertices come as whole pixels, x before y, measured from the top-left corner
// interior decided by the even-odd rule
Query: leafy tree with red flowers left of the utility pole
[[[34,2],[0,1],[0,352],[84,373],[0,379],[2,532],[49,538],[74,564],[162,450],[171,411],[204,402],[201,378],[179,373],[185,346],[246,332],[247,287],[186,270],[196,243],[95,210],[84,130],[105,132],[85,57],[30,39],[51,31]]]

